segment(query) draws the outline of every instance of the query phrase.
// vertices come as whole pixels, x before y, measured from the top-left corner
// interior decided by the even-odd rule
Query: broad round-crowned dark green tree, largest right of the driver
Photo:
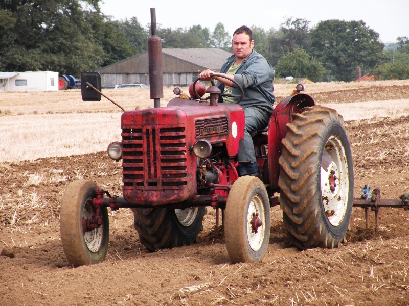
[[[352,81],[355,68],[369,71],[388,59],[379,34],[360,21],[325,20],[311,30],[308,53],[324,63],[327,79]]]

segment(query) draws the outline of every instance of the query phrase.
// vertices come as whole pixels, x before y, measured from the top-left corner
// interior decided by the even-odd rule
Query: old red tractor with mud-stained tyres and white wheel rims
[[[157,72],[162,60],[157,48],[151,50],[154,44],[160,46],[154,25],[149,57],[159,63],[150,67]],[[162,71],[149,75],[151,98],[158,106],[163,86],[157,75]],[[84,100],[101,99],[98,73],[83,73],[81,81]],[[263,259],[270,207],[278,203],[292,242],[301,249],[332,248],[344,240],[352,213],[353,164],[342,116],[315,105],[301,93],[304,86],[297,85],[297,91],[277,105],[268,128],[253,135],[263,181],[239,177],[236,155],[244,135],[243,109],[219,104],[221,93],[215,86],[203,99],[197,81],[190,97],[182,94],[167,107],[122,114],[122,141],[111,143],[108,155],[122,159],[123,197],[111,196],[91,181],[67,187],[60,231],[70,263],[94,264],[106,257],[107,208],[131,208],[140,242],[150,251],[195,243],[206,206],[225,209],[225,243],[233,263]]]

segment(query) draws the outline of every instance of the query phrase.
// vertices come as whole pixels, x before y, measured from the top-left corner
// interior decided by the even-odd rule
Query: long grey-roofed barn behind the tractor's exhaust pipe
[[[188,86],[205,69],[220,71],[232,53],[219,48],[162,49],[163,83],[166,87]],[[149,85],[148,53],[141,53],[97,70],[102,86],[141,83]]]

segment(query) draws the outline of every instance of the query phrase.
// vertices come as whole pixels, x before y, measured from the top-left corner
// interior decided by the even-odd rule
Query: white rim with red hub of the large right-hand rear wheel
[[[338,226],[348,208],[349,169],[344,145],[336,136],[325,144],[321,161],[321,196],[325,215]]]

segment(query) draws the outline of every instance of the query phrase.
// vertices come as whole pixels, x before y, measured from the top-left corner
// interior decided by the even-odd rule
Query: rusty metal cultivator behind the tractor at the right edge
[[[361,207],[365,209],[365,225],[369,227],[369,210],[375,212],[375,229],[379,227],[379,209],[381,207],[403,208],[409,209],[409,193],[402,194],[398,199],[380,199],[380,188],[371,190],[369,185],[365,185],[362,189],[361,198],[354,198],[353,207]]]

